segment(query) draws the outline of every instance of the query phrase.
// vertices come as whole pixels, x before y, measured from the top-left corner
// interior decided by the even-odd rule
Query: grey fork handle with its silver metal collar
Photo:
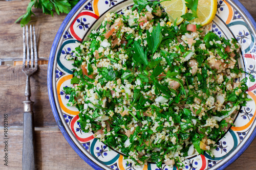
[[[33,102],[24,101],[22,169],[35,169]]]

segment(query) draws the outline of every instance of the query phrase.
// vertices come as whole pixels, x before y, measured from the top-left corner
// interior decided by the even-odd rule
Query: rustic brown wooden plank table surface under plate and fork
[[[22,28],[14,21],[25,13],[30,1],[0,1],[0,169],[22,169],[23,105],[25,80],[21,65],[8,65],[22,61]],[[241,3],[256,19],[255,0]],[[35,113],[36,167],[38,169],[93,169],[70,147],[55,122],[47,92],[47,63],[54,37],[66,14],[36,16],[30,24],[35,25],[40,65],[31,77],[31,100]],[[17,62],[18,63],[18,62]],[[3,65],[4,64],[4,65]],[[4,165],[4,114],[8,114],[8,166]],[[256,169],[256,139],[235,162],[226,169]],[[74,163],[75,162],[75,163]]]

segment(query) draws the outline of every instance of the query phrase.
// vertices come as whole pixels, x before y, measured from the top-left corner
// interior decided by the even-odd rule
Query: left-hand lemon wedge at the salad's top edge
[[[164,1],[160,3],[164,8],[165,12],[168,14],[169,20],[174,23],[177,18],[176,24],[179,25],[183,18],[181,15],[184,15],[187,12],[187,7],[184,0],[172,0]]]

